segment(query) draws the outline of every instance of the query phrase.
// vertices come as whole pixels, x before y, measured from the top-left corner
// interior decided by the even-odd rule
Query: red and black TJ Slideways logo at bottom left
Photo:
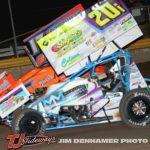
[[[48,136],[26,136],[25,134],[8,135],[8,149],[18,149],[22,146],[33,146],[37,144],[56,143],[56,137]]]

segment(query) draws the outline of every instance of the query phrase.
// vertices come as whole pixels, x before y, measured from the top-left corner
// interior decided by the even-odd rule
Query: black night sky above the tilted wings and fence
[[[85,8],[98,0],[10,0],[16,35],[42,27],[81,3]],[[150,0],[123,0],[128,7],[138,3],[148,5]],[[12,37],[8,0],[0,0],[0,42]],[[26,36],[24,36],[26,37]],[[24,38],[23,37],[23,38]]]

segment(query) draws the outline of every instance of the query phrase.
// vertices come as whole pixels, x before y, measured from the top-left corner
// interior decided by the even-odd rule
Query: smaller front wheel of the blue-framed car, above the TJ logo
[[[24,109],[12,120],[14,133],[25,133],[28,136],[44,134],[46,123],[43,116],[33,109]]]

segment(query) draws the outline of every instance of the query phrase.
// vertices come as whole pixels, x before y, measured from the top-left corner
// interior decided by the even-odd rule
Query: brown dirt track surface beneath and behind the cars
[[[138,65],[144,77],[150,77],[150,62]],[[7,150],[7,136],[11,130],[6,126],[0,126],[0,150]],[[61,129],[46,132],[47,136],[60,139],[71,139],[69,144],[41,144],[30,147],[22,147],[21,150],[149,150],[150,149],[150,128],[135,129],[125,126],[122,122]],[[119,142],[114,144],[75,144],[75,139],[117,139]],[[121,143],[123,139],[147,139],[145,144]]]

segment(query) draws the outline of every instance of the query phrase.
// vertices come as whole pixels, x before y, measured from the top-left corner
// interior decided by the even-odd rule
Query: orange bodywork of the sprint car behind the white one
[[[18,80],[5,71],[0,74],[0,98],[20,84],[30,93],[42,95],[47,87],[64,80],[65,77],[57,76],[50,66],[31,69]]]

